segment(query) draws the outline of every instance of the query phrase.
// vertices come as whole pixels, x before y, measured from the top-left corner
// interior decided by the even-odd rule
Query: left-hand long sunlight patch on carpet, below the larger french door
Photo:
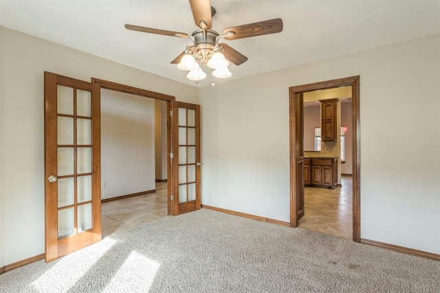
[[[93,246],[59,259],[52,268],[32,282],[32,287],[38,292],[49,292],[48,290],[54,288],[69,290],[115,243],[115,239],[107,237]],[[75,259],[81,261],[74,261]],[[68,274],[68,277],[65,274]]]

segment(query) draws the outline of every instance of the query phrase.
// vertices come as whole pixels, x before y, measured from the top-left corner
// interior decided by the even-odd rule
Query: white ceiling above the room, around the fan
[[[225,41],[249,60],[232,78],[340,56],[440,32],[440,0],[212,0],[213,29],[281,17],[279,34]],[[0,25],[192,86],[170,64],[188,39],[126,30],[124,24],[197,29],[185,0],[0,0]],[[216,83],[221,80],[215,80]]]

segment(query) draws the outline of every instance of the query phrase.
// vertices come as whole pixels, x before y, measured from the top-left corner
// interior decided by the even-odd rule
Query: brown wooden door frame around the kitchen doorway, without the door
[[[289,133],[290,133],[290,226],[298,227],[298,215],[296,213],[298,202],[296,200],[296,164],[294,164],[294,129],[296,119],[293,105],[296,94],[318,89],[332,89],[335,87],[351,86],[352,97],[352,157],[353,157],[353,241],[360,242],[360,76],[351,76],[334,80],[326,80],[320,83],[297,85],[289,87]],[[303,107],[303,105],[301,105]],[[301,122],[302,123],[302,122]],[[304,142],[303,142],[304,143]]]

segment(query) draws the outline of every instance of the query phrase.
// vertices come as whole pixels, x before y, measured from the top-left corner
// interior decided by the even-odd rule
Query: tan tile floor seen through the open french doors
[[[101,205],[102,238],[167,215],[166,182],[156,182],[156,192],[104,202]]]

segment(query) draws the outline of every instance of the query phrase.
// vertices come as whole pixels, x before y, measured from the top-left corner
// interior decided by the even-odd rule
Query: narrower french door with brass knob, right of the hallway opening
[[[174,102],[173,215],[200,209],[200,165],[200,106]]]

